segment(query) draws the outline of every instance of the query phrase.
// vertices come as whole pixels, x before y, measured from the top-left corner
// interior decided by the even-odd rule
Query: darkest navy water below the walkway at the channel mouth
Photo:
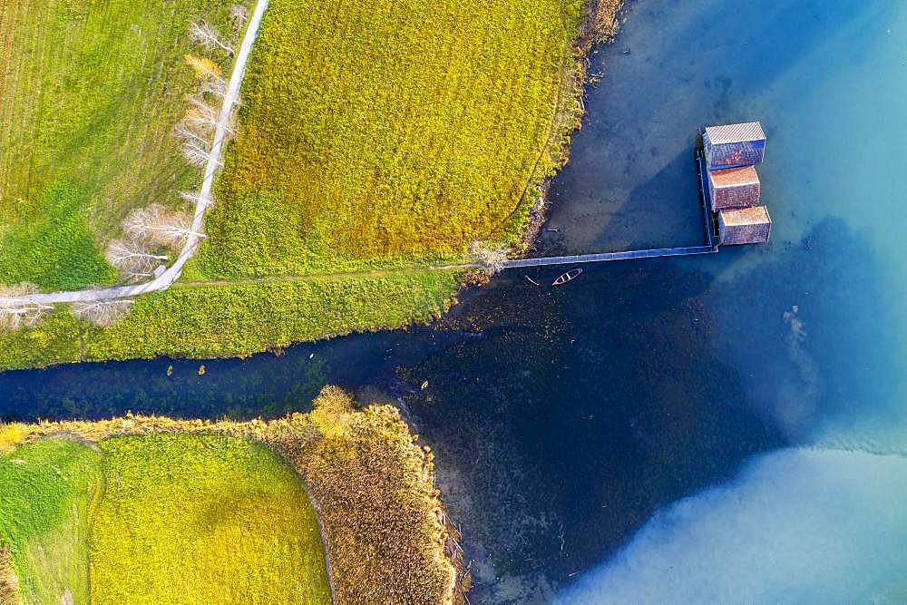
[[[736,372],[709,352],[711,280],[678,260],[588,268],[565,288],[508,273],[442,322],[482,338],[405,370],[413,386],[431,377],[407,403],[480,600],[513,590],[501,577],[522,586],[514,602],[545,600],[658,506],[783,444],[741,413]]]

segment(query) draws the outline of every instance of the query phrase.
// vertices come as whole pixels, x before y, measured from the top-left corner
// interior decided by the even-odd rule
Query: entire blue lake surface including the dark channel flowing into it
[[[509,271],[434,326],[204,376],[166,359],[6,373],[0,415],[281,415],[344,385],[398,398],[433,446],[473,602],[907,600],[907,5],[625,16],[591,56],[539,250],[697,243],[697,129],[754,119],[770,244],[588,266],[564,288]]]

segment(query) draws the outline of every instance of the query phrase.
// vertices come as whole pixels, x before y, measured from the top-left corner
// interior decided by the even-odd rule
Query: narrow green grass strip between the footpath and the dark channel
[[[437,317],[462,272],[278,279],[265,283],[174,287],[135,299],[109,328],[65,309],[36,327],[0,331],[0,371],[55,363],[158,355],[249,356],[301,340]]]

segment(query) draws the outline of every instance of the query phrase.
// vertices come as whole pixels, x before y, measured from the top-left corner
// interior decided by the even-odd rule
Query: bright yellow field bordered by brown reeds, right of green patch
[[[267,448],[218,435],[101,442],[94,603],[327,603],[315,511]]]

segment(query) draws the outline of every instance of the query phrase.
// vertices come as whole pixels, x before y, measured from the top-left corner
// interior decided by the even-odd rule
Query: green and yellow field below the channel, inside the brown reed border
[[[302,483],[245,439],[21,445],[0,456],[0,545],[28,603],[330,601]]]

